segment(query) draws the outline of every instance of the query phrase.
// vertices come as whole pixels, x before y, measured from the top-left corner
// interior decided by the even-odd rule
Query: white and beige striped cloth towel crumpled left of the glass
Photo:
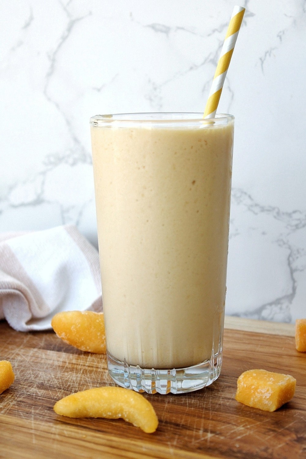
[[[60,311],[102,311],[98,251],[74,226],[0,234],[0,319],[48,330]]]

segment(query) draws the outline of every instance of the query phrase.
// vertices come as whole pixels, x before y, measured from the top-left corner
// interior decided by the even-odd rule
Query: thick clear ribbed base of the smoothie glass
[[[147,369],[119,362],[107,354],[111,378],[122,387],[149,394],[180,394],[209,386],[220,375],[222,349],[201,364],[178,369]]]

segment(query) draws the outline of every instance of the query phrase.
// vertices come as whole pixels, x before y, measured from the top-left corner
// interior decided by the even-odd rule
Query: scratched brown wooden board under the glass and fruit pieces
[[[15,371],[0,395],[0,458],[306,458],[306,353],[295,350],[293,325],[238,318],[226,325],[215,383],[179,396],[145,395],[160,420],[148,435],[123,420],[56,415],[61,397],[112,384],[105,356],[78,351],[53,332],[21,333],[0,322],[0,360]],[[295,397],[274,413],[237,403],[237,378],[252,368],[293,375]]]

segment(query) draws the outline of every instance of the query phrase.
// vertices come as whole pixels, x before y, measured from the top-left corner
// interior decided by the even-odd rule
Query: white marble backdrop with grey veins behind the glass
[[[89,117],[202,112],[235,1],[0,0],[0,232],[95,245]],[[226,312],[306,316],[306,1],[242,0]]]

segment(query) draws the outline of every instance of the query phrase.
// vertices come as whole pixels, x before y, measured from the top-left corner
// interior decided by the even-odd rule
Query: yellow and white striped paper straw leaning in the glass
[[[234,51],[234,46],[238,37],[239,29],[245,14],[245,8],[234,6],[231,20],[228,24],[228,31],[225,35],[223,47],[219,57],[216,73],[212,81],[211,90],[208,95],[203,118],[215,118],[224,80],[228,71],[229,63]]]

